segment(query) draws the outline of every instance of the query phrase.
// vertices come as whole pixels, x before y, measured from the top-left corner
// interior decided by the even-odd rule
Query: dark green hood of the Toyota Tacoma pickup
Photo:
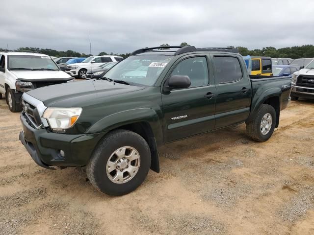
[[[82,107],[93,99],[120,95],[142,90],[144,87],[129,86],[105,80],[67,82],[38,88],[27,92],[41,100],[47,107]]]

